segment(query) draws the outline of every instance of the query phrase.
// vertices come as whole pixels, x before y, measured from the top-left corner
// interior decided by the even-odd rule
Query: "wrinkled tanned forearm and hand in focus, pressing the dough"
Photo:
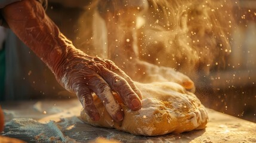
[[[117,92],[131,110],[141,108],[141,93],[127,74],[110,60],[90,57],[76,49],[45,14],[39,2],[14,2],[3,8],[1,14],[18,38],[53,71],[58,82],[75,92],[92,120],[100,119],[92,92],[104,102],[116,122],[124,118],[124,113],[112,91]]]

